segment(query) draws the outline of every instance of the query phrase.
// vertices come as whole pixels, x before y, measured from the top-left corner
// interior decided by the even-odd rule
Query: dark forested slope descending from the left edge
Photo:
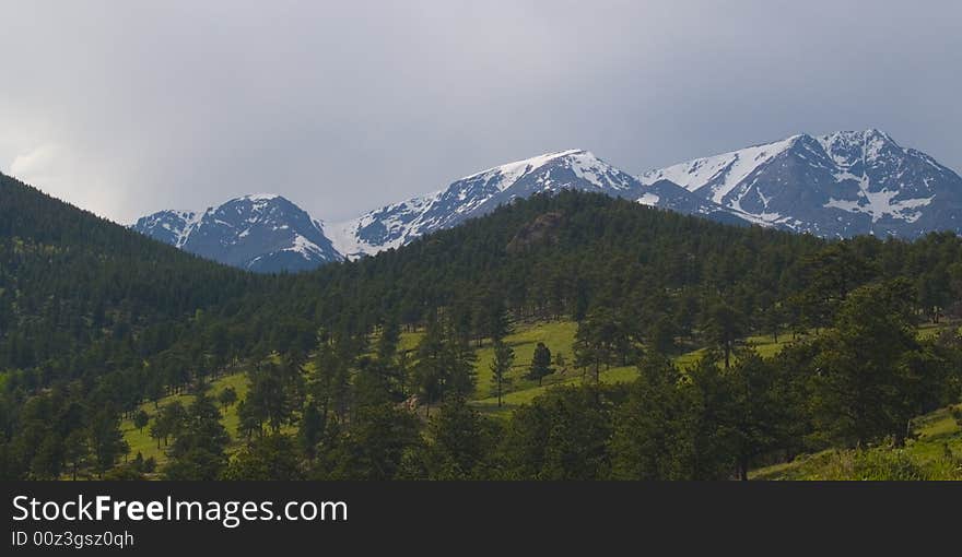
[[[0,370],[31,388],[136,367],[257,284],[0,175]]]

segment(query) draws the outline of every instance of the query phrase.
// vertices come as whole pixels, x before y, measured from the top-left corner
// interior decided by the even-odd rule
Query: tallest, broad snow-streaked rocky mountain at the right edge
[[[879,130],[794,135],[652,170],[751,222],[826,237],[960,232],[962,178]]]

